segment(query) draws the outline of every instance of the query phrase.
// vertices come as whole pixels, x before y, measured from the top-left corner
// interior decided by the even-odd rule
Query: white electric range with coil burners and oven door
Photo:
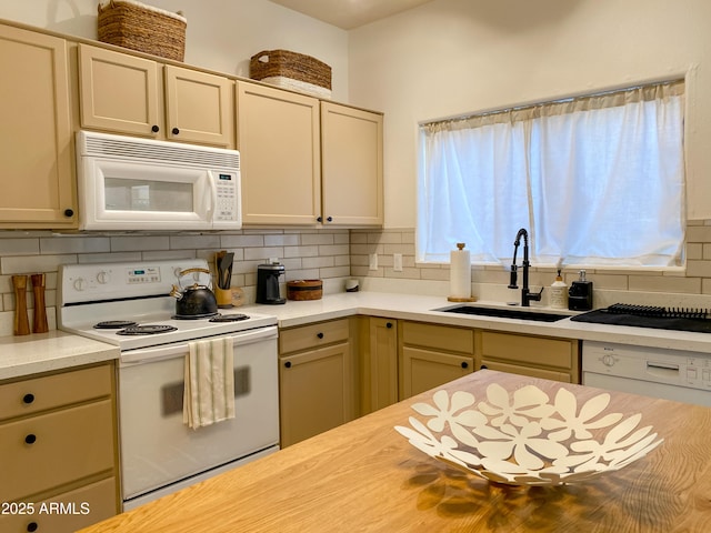
[[[63,331],[118,345],[123,510],[279,449],[277,318],[234,309],[177,319],[179,273],[204,260],[66,264],[58,280]],[[194,283],[211,285],[196,272]],[[183,280],[184,282],[184,280]],[[189,343],[231,336],[236,418],[198,430],[183,423]]]

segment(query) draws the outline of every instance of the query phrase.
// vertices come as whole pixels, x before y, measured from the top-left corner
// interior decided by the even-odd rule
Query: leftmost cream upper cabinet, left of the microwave
[[[0,26],[0,228],[74,229],[67,43]]]

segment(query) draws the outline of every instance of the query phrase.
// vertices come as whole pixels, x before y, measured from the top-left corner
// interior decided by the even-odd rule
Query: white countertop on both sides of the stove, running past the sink
[[[579,339],[582,341],[603,340],[667,350],[711,353],[711,335],[705,333],[590,324],[572,322],[570,319],[557,322],[538,322],[437,311],[438,309],[455,305],[459,304],[449,302],[445,296],[365,291],[327,294],[321,300],[288,301],[283,305],[252,304],[234,308],[231,311],[247,314],[252,311],[260,314],[274,315],[279,320],[280,328],[292,328],[312,322],[363,314],[511,333]],[[507,306],[500,302],[487,301],[479,301],[472,305]],[[514,306],[513,309],[522,308]],[[575,314],[567,310],[539,306],[531,306],[530,309],[532,311]],[[48,333],[23,336],[0,336],[0,381],[118,358],[119,349],[117,346],[61,331],[52,330]]]

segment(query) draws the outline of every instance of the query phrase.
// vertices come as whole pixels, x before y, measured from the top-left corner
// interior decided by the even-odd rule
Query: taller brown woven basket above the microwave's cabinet
[[[182,61],[188,20],[132,0],[99,3],[98,34],[101,42]]]

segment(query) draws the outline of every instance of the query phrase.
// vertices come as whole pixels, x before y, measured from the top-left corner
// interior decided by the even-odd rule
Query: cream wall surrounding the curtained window
[[[418,122],[684,74],[688,218],[711,219],[709,20],[707,0],[433,0],[351,31],[351,101],[385,113],[385,225],[415,225]]]

